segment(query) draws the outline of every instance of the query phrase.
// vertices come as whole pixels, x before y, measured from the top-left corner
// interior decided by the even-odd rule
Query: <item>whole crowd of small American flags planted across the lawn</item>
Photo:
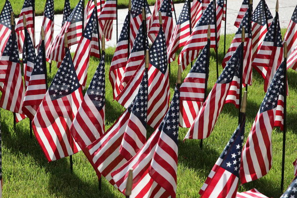
[[[46,27],[50,29],[52,24],[44,23],[44,39],[38,45],[36,56],[34,37],[30,36],[29,31],[30,23],[24,25],[22,20],[22,40],[22,37],[17,36],[17,25],[13,27],[14,23],[10,21],[8,11],[11,5],[6,0],[0,21],[10,33],[0,57],[0,82],[3,83],[0,106],[25,114],[33,121],[35,136],[49,161],[83,150],[98,176],[104,176],[120,192],[125,194],[128,172],[133,169],[132,197],[175,198],[179,126],[190,127],[185,139],[207,138],[225,103],[240,106],[240,78],[244,86],[251,85],[251,66],[255,64],[253,66],[265,74],[263,78],[267,79],[267,90],[264,89],[267,93],[247,143],[243,142],[245,116],[242,112],[243,119],[239,127],[206,179],[200,194],[202,197],[258,194],[256,190],[251,190],[237,195],[237,186],[239,181],[246,183],[267,174],[272,161],[272,129],[274,126],[282,127],[283,123],[284,96],[287,94],[284,93],[287,85],[283,74],[287,68],[283,61],[278,14],[272,19],[265,0],[259,2],[253,13],[251,6],[247,8],[223,60],[223,72],[206,98],[209,49],[215,48],[215,41],[219,40],[220,34],[215,35],[214,30],[220,30],[224,1],[208,1],[208,5],[207,0],[193,1],[192,6],[198,3],[197,10],[200,11],[197,14],[200,14],[200,18],[191,32],[193,24],[190,25],[189,20],[193,12],[189,1],[185,2],[174,32],[171,28],[171,0],[157,0],[150,17],[147,2],[132,1],[131,13],[125,19],[109,71],[114,99],[126,110],[105,132],[105,52],[104,48],[102,52],[99,51],[98,44],[99,40],[104,41],[105,34],[101,37],[98,33],[108,29],[100,30],[104,25],[110,27],[109,20],[114,17],[114,12],[110,10],[113,10],[115,1],[106,0],[104,6],[97,3],[96,9],[96,1],[90,1],[88,9],[83,7],[82,0],[71,13],[70,8],[65,7],[64,12],[69,15],[65,17],[61,32],[55,39],[52,38],[48,48],[46,38],[50,38],[50,35]],[[30,5],[34,7],[34,3],[25,2],[24,10]],[[53,1],[48,0],[46,9],[50,10],[51,5],[53,10]],[[65,5],[69,6],[69,3],[65,1]],[[82,12],[87,13],[85,23]],[[27,17],[26,14],[23,16]],[[53,20],[53,11],[45,14],[46,17]],[[266,18],[271,19],[271,22],[268,23]],[[30,20],[30,17],[26,19]],[[295,34],[296,31],[291,30],[292,23],[288,31]],[[133,28],[138,24],[139,28],[133,32],[131,24],[134,24]],[[270,26],[267,27],[267,24]],[[244,28],[247,31],[242,41]],[[210,34],[207,37],[208,30]],[[254,33],[258,35],[256,38]],[[289,34],[286,33],[288,38],[293,37]],[[5,38],[6,33],[3,35]],[[108,34],[106,38],[108,40]],[[152,40],[150,47],[148,38]],[[22,45],[20,40],[23,41],[22,50],[19,49]],[[180,43],[173,45],[176,41]],[[78,44],[78,48],[72,59],[69,47],[74,44]],[[175,57],[172,54],[183,45],[185,47],[178,58],[180,72],[198,58],[184,82],[177,83],[169,105],[168,63]],[[129,54],[128,49],[131,49]],[[266,53],[263,52],[265,50]],[[19,51],[23,53],[25,83],[22,80]],[[100,55],[100,62],[83,96],[92,53],[97,57]],[[59,62],[49,88],[46,60]],[[266,65],[256,65],[257,60]],[[241,69],[243,75],[240,74]],[[155,129],[148,140],[147,125]],[[229,179],[226,180],[226,177]]]

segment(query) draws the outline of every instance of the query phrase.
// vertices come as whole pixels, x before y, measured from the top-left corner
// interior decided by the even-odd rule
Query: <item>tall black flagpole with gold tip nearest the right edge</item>
[[[286,133],[287,133],[287,42],[284,43],[284,128],[283,128],[283,155],[282,155],[282,179],[281,191],[284,190],[285,176],[285,154],[286,154]]]

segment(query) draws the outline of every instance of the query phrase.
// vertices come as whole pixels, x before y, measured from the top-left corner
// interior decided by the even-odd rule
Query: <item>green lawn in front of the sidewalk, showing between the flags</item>
[[[233,35],[227,36],[227,47]],[[223,41],[223,39],[222,39]],[[223,44],[221,42],[221,44]],[[106,50],[106,130],[121,115],[124,108],[116,101],[112,101],[111,86],[108,80],[108,71],[114,48]],[[223,48],[219,48],[219,60],[223,59]],[[88,84],[91,81],[98,65],[98,60],[91,58]],[[183,72],[183,78],[189,72],[189,67]],[[53,78],[56,68],[49,75]],[[171,96],[176,82],[177,63],[171,64],[170,90]],[[211,52],[210,75],[208,91],[216,80],[214,52]],[[219,71],[222,68],[219,67]],[[297,75],[293,70],[288,71],[290,96],[288,97],[288,132],[286,146],[285,189],[293,180],[292,162],[296,159],[296,129],[297,129]],[[254,71],[252,86],[248,87],[247,97],[247,139],[252,122],[264,98],[263,79]],[[98,190],[98,181],[95,171],[82,152],[73,156],[74,170],[69,170],[69,157],[48,163],[35,138],[29,137],[28,119],[16,125],[13,130],[13,116],[10,111],[1,109],[2,126],[2,168],[3,168],[3,198],[123,198],[113,186],[104,178],[102,190]],[[200,141],[183,138],[187,129],[179,131],[178,151],[178,184],[177,198],[198,198],[198,191],[209,174],[212,166],[229,141],[237,127],[238,110],[232,104],[226,104],[220,114],[212,134],[203,141],[203,149],[199,148]],[[149,134],[152,132],[149,129]],[[239,186],[239,191],[252,188],[258,189],[268,197],[279,198],[282,163],[283,133],[275,128],[272,133],[273,166],[263,178]]]

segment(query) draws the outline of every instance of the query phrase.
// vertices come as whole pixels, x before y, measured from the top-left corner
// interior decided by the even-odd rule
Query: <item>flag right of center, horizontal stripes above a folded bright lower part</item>
[[[208,71],[206,45],[181,85],[180,126],[191,127],[204,101],[205,78]]]

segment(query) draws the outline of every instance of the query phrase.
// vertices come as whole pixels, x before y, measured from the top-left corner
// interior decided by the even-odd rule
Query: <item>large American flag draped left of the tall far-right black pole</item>
[[[284,103],[284,69],[283,62],[274,74],[243,148],[240,170],[243,184],[263,177],[271,168],[271,133],[276,115],[284,110],[280,105]]]

